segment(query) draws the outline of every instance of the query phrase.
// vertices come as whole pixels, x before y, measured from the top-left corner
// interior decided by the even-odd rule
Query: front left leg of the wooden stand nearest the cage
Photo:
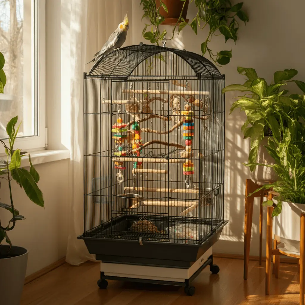
[[[248,179],[247,179],[248,180]],[[251,181],[252,182],[252,181]],[[252,230],[252,216],[253,216],[253,197],[248,197],[247,183],[246,183],[246,198],[245,198],[245,232],[244,232],[244,279],[248,278],[250,242]]]

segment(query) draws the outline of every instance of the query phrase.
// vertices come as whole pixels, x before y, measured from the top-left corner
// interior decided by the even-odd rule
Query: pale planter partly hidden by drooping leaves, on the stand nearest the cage
[[[274,159],[269,155],[267,152],[266,147],[264,145],[268,145],[268,138],[264,137],[263,140],[260,142],[260,146],[258,149],[257,154],[257,163],[261,164],[274,164]],[[250,151],[250,139],[249,139],[249,151]],[[264,185],[267,183],[272,183],[277,181],[277,174],[273,170],[272,167],[266,166],[257,166],[255,170],[251,172],[251,179],[258,185]]]

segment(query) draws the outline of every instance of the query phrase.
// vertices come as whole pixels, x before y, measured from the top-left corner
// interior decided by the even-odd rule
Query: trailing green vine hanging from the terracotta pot
[[[189,4],[195,3],[197,8],[197,14],[195,18],[187,23],[182,17],[183,9],[186,5],[186,0],[180,0],[183,3],[183,8],[181,9],[181,14],[178,18],[176,25],[174,26],[171,37],[166,38],[171,40],[174,35],[185,27],[190,26],[194,33],[197,35],[198,30],[203,30],[206,26],[209,27],[209,33],[201,43],[202,55],[208,52],[210,59],[219,65],[226,65],[230,62],[232,57],[232,50],[223,50],[214,54],[214,52],[209,48],[208,43],[211,41],[213,35],[223,35],[225,42],[229,39],[237,40],[237,32],[239,29],[238,20],[243,21],[245,24],[249,21],[248,16],[242,10],[243,2],[239,2],[232,5],[230,0],[190,0]],[[151,43],[156,43],[159,45],[167,34],[166,30],[160,32],[159,26],[164,21],[164,16],[160,15],[161,6],[167,11],[166,5],[160,0],[160,6],[156,7],[156,0],[141,0],[140,5],[144,10],[144,17],[148,17],[150,23],[145,23],[142,35],[145,39],[149,40]],[[148,27],[151,26],[150,31],[146,31]]]

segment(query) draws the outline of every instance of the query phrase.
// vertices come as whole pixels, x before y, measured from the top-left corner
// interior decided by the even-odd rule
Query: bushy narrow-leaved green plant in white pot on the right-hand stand
[[[264,205],[274,205],[272,217],[273,233],[284,243],[286,250],[300,252],[300,215],[305,213],[305,95],[291,95],[295,112],[290,116],[279,110],[282,136],[272,136],[266,149],[274,164],[246,164],[271,167],[278,175],[278,181],[259,188],[272,187],[278,196]],[[284,124],[285,122],[285,124]],[[250,194],[251,195],[251,194]]]

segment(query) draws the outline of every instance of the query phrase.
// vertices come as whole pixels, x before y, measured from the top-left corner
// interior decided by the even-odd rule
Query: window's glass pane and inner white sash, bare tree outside
[[[7,137],[5,126],[16,115],[23,122],[18,136],[35,135],[33,3],[0,0],[0,51],[7,76],[5,95],[0,97],[0,138]]]

